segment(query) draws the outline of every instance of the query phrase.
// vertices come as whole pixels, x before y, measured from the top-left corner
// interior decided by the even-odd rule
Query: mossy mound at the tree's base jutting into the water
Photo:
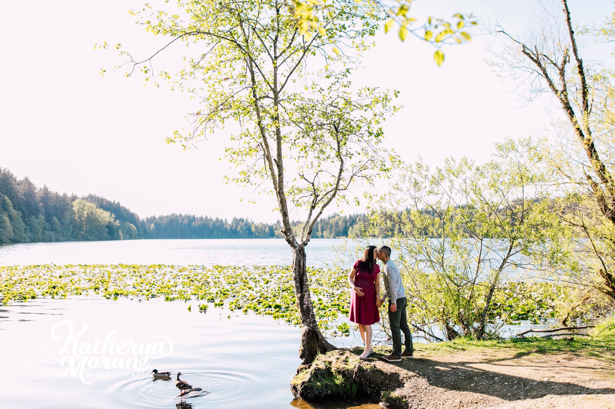
[[[358,356],[349,349],[317,356],[312,364],[298,369],[290,384],[293,395],[305,400],[378,395],[402,388],[405,380],[415,375],[378,357],[361,360]]]

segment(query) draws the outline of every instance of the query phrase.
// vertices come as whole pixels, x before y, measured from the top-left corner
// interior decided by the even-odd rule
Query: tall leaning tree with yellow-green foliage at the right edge
[[[613,23],[575,33],[568,2],[552,6],[547,3],[523,37],[498,27],[509,47],[495,65],[528,85],[528,100],[549,93],[558,101],[557,143],[544,149],[561,189],[557,210],[576,231],[579,260],[566,274],[615,299],[615,83],[600,63],[585,63],[579,47],[579,33],[609,39]]]

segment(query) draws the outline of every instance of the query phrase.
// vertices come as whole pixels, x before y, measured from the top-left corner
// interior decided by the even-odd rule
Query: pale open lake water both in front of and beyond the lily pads
[[[306,249],[308,264],[331,265],[336,258],[333,247],[344,244],[352,245],[352,241],[311,240]],[[4,266],[288,265],[290,259],[288,244],[279,239],[0,246],[0,265]],[[192,306],[191,311],[188,305]],[[199,313],[197,305],[197,300],[164,302],[154,298],[138,302],[126,298],[69,297],[65,300],[39,298],[0,306],[0,365],[5,375],[0,388],[2,406],[312,407],[293,401],[290,392],[290,380],[300,365],[298,327],[274,321],[269,316],[233,312],[211,304],[207,313]],[[347,322],[347,319],[340,321]],[[504,330],[510,334],[529,326],[523,322],[507,325]],[[379,335],[376,331],[375,336]],[[354,331],[349,337],[330,341],[337,346],[362,345]],[[420,340],[416,338],[417,341]],[[111,343],[116,349],[110,347]],[[149,375],[153,368],[172,371],[173,380],[153,381]],[[203,391],[178,399],[177,372],[185,374],[183,380]],[[327,408],[357,407],[357,403],[337,402]],[[370,404],[361,407],[377,408]]]

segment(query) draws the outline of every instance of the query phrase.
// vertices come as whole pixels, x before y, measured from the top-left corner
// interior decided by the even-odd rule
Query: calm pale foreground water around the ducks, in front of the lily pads
[[[187,306],[161,300],[139,303],[79,297],[0,307],[0,362],[5,375],[1,406],[27,402],[33,408],[290,407],[293,397],[288,384],[301,363],[296,327],[218,308],[199,313],[194,303],[190,313]],[[69,325],[73,325],[73,337]],[[87,330],[75,335],[84,325]],[[123,350],[102,351],[107,337],[107,346],[132,341],[139,348],[123,354]],[[45,341],[53,343],[51,353],[39,357],[35,365],[24,364],[33,345],[24,341],[36,341],[37,348],[44,348]],[[137,368],[113,368],[129,357],[144,359],[147,344],[157,342],[164,343],[162,355],[168,356],[149,358]],[[161,351],[156,350],[156,355]],[[77,357],[77,368],[83,357],[87,359],[83,372],[65,373],[71,357]],[[96,368],[105,357],[111,367]],[[90,360],[95,368],[88,367]],[[177,399],[175,377],[153,381],[149,376],[153,368],[182,372],[184,380],[210,393],[182,402]]]

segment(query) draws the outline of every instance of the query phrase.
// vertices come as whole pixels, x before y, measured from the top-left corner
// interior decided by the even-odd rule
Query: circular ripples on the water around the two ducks
[[[177,372],[173,372],[170,380],[127,379],[109,385],[108,392],[130,399],[127,402],[130,405],[138,402],[139,407],[169,408],[184,400],[188,405],[178,407],[237,408],[250,399],[250,391],[260,383],[258,379],[241,373],[191,370],[182,372],[181,379],[202,391],[192,391],[180,398],[180,391],[175,388],[176,377]]]

